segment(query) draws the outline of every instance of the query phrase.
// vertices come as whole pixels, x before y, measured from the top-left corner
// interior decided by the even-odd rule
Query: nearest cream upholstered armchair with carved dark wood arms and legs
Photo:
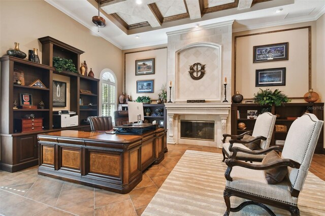
[[[323,121],[313,114],[298,118],[290,126],[283,150],[273,146],[261,151],[262,154],[268,153],[262,164],[245,163],[233,158],[225,160],[228,169],[223,192],[226,204],[224,215],[250,204],[263,207],[271,215],[275,214],[266,205],[288,210],[291,215],[299,215],[299,192],[303,188],[322,124]],[[282,150],[281,156],[272,150]],[[238,147],[233,147],[233,151],[250,154]],[[283,179],[277,179],[280,175]],[[231,196],[249,201],[232,208]]]

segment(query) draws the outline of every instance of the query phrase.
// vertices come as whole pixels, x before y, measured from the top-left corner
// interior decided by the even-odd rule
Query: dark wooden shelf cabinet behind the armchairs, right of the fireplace
[[[257,115],[261,114],[262,110],[266,108],[266,106],[260,106],[259,104],[233,103],[231,109],[232,134],[241,134],[245,131],[252,131],[255,119],[254,117],[249,118],[249,116],[252,116],[253,113],[257,113]],[[319,120],[323,120],[323,111],[324,103],[285,103],[283,106],[272,106],[270,112],[277,115],[275,125],[277,125],[278,128],[286,128],[286,130],[276,131],[276,128],[274,128],[271,146],[283,143],[291,124],[305,112],[312,113]],[[246,128],[239,129],[239,123],[244,123]],[[323,154],[323,129],[319,135],[315,153]]]

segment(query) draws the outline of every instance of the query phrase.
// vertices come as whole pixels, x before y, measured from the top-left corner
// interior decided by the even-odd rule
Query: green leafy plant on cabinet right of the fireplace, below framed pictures
[[[259,90],[261,91],[254,94],[254,103],[270,106],[274,104],[275,106],[279,106],[282,105],[282,103],[287,103],[291,101],[285,94],[282,93],[282,91],[279,91],[279,89],[275,89],[274,91],[272,91],[271,89]]]

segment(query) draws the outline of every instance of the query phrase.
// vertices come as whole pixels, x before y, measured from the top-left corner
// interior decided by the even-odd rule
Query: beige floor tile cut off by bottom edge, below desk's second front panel
[[[74,197],[72,199],[76,199],[78,197]],[[69,202],[67,205],[61,205],[57,208],[62,209],[64,211],[68,211],[73,214],[82,215],[82,216],[90,216],[94,213],[93,199],[83,200],[81,202]]]

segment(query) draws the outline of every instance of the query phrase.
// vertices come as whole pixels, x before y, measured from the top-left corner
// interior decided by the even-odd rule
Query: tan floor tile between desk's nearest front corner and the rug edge
[[[158,188],[156,186],[148,186],[132,190],[129,195],[135,209],[148,205],[157,191]]]

